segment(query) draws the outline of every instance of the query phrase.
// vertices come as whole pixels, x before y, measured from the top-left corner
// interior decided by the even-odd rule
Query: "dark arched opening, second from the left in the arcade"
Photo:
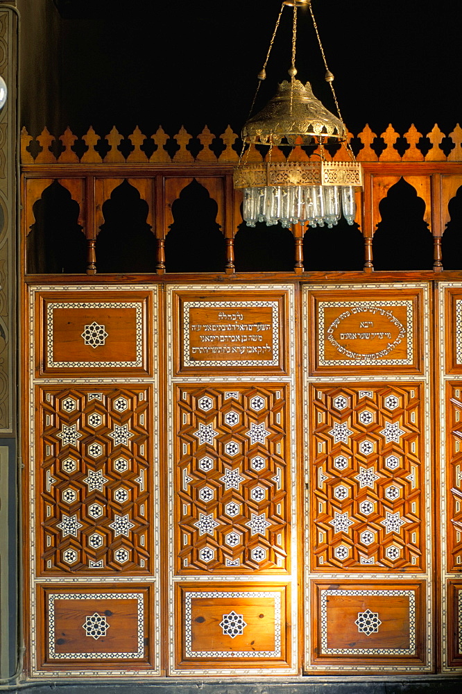
[[[124,179],[103,203],[104,223],[96,237],[99,273],[155,272],[156,241],[147,223],[149,207]]]

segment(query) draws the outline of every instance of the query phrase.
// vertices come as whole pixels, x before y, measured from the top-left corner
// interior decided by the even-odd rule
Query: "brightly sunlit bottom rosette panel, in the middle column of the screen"
[[[290,667],[288,601],[288,585],[178,584],[177,667]]]

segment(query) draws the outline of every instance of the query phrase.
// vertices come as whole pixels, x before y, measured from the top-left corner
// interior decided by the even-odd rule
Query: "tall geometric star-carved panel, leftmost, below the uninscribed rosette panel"
[[[37,570],[153,570],[150,386],[37,387]]]

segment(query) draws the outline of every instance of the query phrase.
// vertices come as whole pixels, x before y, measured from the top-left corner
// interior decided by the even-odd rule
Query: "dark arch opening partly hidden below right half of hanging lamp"
[[[364,239],[359,226],[341,217],[332,229],[308,228],[303,237],[305,271],[354,271],[364,264]]]

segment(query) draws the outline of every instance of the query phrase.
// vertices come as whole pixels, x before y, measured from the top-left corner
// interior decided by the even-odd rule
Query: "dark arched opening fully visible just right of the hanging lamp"
[[[400,178],[379,203],[380,221],[373,237],[376,270],[426,270],[433,265],[433,237],[425,221],[425,202]]]

